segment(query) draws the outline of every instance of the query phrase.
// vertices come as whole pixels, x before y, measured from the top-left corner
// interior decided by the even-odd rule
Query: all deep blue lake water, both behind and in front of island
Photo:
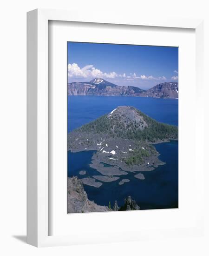
[[[143,97],[103,97],[103,96],[68,96],[68,131],[109,113],[118,106],[133,106],[145,114],[168,124],[178,125],[178,100]],[[134,173],[121,175],[120,179],[130,179],[124,185],[115,182],[103,182],[100,188],[84,185],[90,200],[99,205],[108,205],[111,201],[124,204],[124,198],[131,195],[141,209],[165,209],[178,207],[178,141],[155,145],[159,158],[166,162],[153,171],[143,172],[145,179],[139,180]],[[89,166],[94,151],[72,153],[68,151],[68,176],[79,178],[100,175]],[[107,167],[108,168],[108,167]],[[86,175],[79,175],[85,170]]]

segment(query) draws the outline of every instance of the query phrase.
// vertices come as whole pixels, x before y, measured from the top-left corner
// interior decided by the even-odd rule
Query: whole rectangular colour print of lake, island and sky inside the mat
[[[67,43],[67,213],[178,208],[178,47]]]

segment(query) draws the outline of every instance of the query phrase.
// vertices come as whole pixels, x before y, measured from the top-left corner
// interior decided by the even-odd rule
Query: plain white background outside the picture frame
[[[205,46],[209,45],[209,14],[207,1],[198,0],[7,0],[0,13],[0,253],[1,255],[208,255],[208,236],[179,240],[155,240],[132,243],[86,245],[58,248],[34,248],[26,241],[26,12],[35,8],[84,8],[94,12],[114,11],[140,15],[171,15],[205,19]],[[209,70],[209,50],[205,47],[205,70]],[[205,83],[208,83],[205,72]],[[209,95],[205,87],[205,98]],[[188,92],[189,97],[189,92]],[[185,103],[186,104],[186,103]],[[208,106],[208,102],[206,102]],[[207,112],[206,112],[207,114]],[[208,114],[205,115],[209,116]],[[209,130],[208,123],[206,130]],[[208,135],[207,138],[208,139]],[[207,142],[209,142],[207,140]],[[209,144],[209,143],[206,143]],[[205,153],[206,152],[205,144]],[[206,174],[208,185],[209,175]],[[206,187],[205,190],[209,192]],[[209,194],[208,194],[209,195]],[[205,214],[208,202],[205,199]],[[194,208],[196,202],[194,200]],[[207,211],[207,212],[206,212]],[[209,214],[208,214],[209,216]],[[206,219],[206,235],[209,230]],[[110,227],[111,228],[111,227]],[[112,227],[114,229],[114,227]]]

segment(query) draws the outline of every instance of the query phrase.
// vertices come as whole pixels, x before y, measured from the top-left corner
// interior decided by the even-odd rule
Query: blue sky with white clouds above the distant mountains
[[[68,42],[68,82],[101,77],[148,89],[178,81],[178,47]]]

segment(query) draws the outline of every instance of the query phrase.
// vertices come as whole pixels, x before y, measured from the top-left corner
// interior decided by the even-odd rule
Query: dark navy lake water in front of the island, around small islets
[[[111,204],[113,204],[114,201],[117,200],[118,206],[121,206],[124,203],[124,198],[131,195],[133,198],[135,198],[137,204],[140,206],[140,209],[177,208],[178,172],[175,170],[177,168],[178,141],[160,143],[157,145],[157,147],[158,146],[160,147],[159,157],[162,161],[167,161],[165,165],[158,166],[153,171],[144,172],[144,180],[138,179],[134,176],[140,172],[128,172],[127,175],[120,175],[120,179],[117,181],[102,182],[103,184],[99,188],[84,184],[84,189],[89,197],[89,200],[96,202],[98,205],[106,206],[108,205],[109,201],[111,201]],[[74,160],[76,163],[74,171],[71,168],[69,177],[78,176],[79,179],[82,179],[83,177],[99,175],[97,170],[90,167],[91,157],[93,154],[92,151],[68,153],[71,155],[70,161],[72,162]],[[77,158],[80,160],[85,158],[85,155],[88,155],[88,159],[86,158],[87,161],[85,161],[84,164],[80,163],[80,161],[76,161]],[[167,157],[169,157],[169,159],[167,159]],[[86,175],[79,175],[80,170],[85,170]],[[170,175],[174,176],[175,178],[171,178]],[[118,182],[122,181],[123,179],[129,179],[130,182],[124,182],[123,185],[119,185]],[[121,190],[120,188],[123,189]],[[176,191],[175,193],[169,192],[174,188]],[[174,199],[172,199],[173,197]]]

